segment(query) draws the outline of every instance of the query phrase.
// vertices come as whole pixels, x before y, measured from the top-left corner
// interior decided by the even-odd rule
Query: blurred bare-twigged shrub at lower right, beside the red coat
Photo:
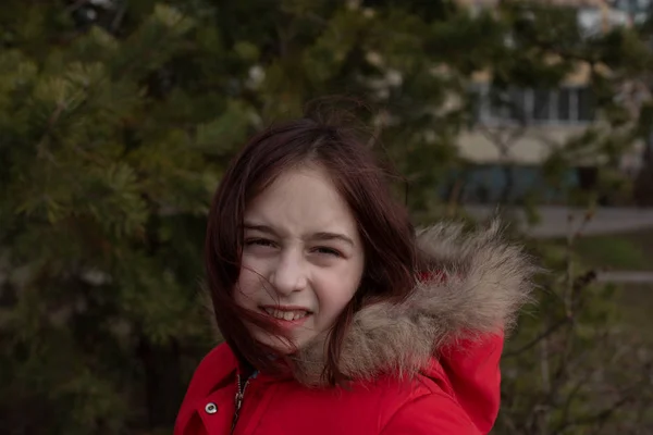
[[[550,272],[540,277],[538,306],[525,311],[506,346],[495,434],[646,434],[653,427],[650,321],[626,318],[636,311],[625,304],[624,289],[595,282],[600,253],[588,261],[586,241],[575,235],[528,243]],[[606,259],[613,258],[599,261]]]

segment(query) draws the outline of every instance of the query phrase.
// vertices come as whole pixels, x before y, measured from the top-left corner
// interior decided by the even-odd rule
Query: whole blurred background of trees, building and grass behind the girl
[[[2,0],[0,433],[171,433],[226,163],[344,95],[416,223],[498,211],[551,271],[494,433],[653,434],[652,3]]]

